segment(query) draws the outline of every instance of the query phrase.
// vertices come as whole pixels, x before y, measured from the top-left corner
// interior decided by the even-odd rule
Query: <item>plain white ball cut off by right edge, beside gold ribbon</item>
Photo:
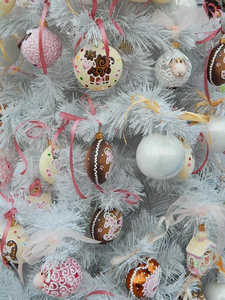
[[[204,130],[204,136],[208,142],[208,149],[211,153],[218,153],[225,150],[225,116],[209,114],[207,129],[210,134],[211,143],[209,144],[208,132]],[[200,147],[206,148],[206,142],[203,139],[198,143]]]

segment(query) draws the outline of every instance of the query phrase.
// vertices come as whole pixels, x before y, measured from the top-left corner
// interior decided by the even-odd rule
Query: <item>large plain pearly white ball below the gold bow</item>
[[[136,150],[140,171],[152,179],[169,179],[182,169],[185,151],[181,141],[174,137],[153,133],[144,137]]]

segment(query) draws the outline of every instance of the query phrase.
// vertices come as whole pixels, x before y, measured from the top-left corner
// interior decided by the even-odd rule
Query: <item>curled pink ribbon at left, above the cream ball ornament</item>
[[[30,128],[30,129],[28,129],[28,130],[26,131],[26,135],[27,135],[28,137],[30,137],[30,138],[37,138],[37,137],[39,137],[40,135],[43,134],[43,132],[41,132],[40,134],[38,134],[38,135],[36,135],[36,136],[29,135],[28,132],[29,132],[31,129],[33,129],[33,128],[49,129],[49,127],[47,126],[47,124],[44,124],[44,123],[39,122],[39,121],[24,121],[24,122],[21,122],[21,123],[16,127],[16,129],[15,129],[15,135],[14,135],[14,144],[15,144],[15,148],[16,148],[16,150],[17,150],[19,156],[22,158],[22,160],[23,160],[23,162],[24,162],[24,164],[25,164],[24,170],[20,173],[21,175],[23,175],[23,174],[26,172],[26,169],[27,169],[27,160],[26,160],[25,156],[23,155],[22,151],[20,150],[19,145],[18,145],[18,143],[17,143],[17,141],[16,141],[16,132],[17,132],[18,128],[20,128],[20,127],[21,127],[23,124],[25,124],[25,123],[33,123],[33,124],[36,124],[36,126],[33,126],[32,128]]]

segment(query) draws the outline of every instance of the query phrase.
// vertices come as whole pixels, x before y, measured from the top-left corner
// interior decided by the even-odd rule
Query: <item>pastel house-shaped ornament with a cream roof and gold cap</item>
[[[204,224],[198,225],[194,235],[186,247],[187,268],[195,276],[202,276],[211,267],[216,245],[208,239]]]

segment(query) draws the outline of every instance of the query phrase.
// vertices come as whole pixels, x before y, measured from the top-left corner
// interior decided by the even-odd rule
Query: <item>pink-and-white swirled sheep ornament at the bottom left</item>
[[[67,256],[64,261],[45,263],[33,278],[33,284],[49,296],[66,297],[79,287],[81,279],[79,263]]]

